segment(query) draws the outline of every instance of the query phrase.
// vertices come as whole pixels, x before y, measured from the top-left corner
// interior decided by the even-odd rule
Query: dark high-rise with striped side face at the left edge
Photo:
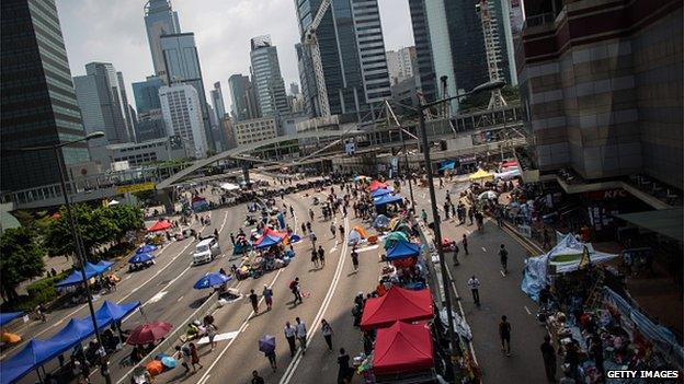
[[[3,0],[0,21],[0,190],[58,183],[53,151],[10,150],[86,135],[55,0]],[[60,151],[67,165],[90,161],[84,142]]]

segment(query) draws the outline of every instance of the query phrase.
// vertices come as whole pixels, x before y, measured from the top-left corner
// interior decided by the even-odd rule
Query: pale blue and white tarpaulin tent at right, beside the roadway
[[[532,300],[537,301],[539,291],[548,282],[549,267],[557,274],[568,274],[578,270],[584,246],[589,252],[591,263],[603,263],[619,255],[594,251],[589,243],[578,241],[572,233],[563,235],[556,246],[546,255],[529,257],[525,260],[525,270],[521,288]]]

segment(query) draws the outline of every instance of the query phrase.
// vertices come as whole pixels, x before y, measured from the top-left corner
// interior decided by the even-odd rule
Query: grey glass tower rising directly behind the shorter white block
[[[197,91],[207,144],[210,149],[216,149],[195,35],[192,32],[162,35],[161,49],[169,84],[190,84]]]

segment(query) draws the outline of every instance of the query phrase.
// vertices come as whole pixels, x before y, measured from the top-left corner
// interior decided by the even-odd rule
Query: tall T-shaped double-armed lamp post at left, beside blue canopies
[[[78,263],[80,264],[81,278],[83,280],[83,290],[88,299],[88,309],[90,310],[90,318],[93,324],[93,330],[98,339],[98,345],[100,346],[101,349],[104,348],[104,345],[102,344],[102,337],[100,335],[100,329],[98,328],[98,321],[95,318],[95,310],[93,307],[92,294],[90,292],[90,287],[88,286],[88,277],[86,276],[86,255],[84,255],[86,249],[83,247],[81,236],[78,233],[76,218],[73,217],[73,212],[71,210],[71,200],[69,199],[69,194],[67,191],[67,182],[66,182],[66,175],[65,175],[66,164],[64,161],[64,154],[61,153],[60,150],[62,147],[68,147],[78,142],[90,141],[92,139],[99,139],[102,137],[104,137],[103,131],[95,131],[78,140],[60,142],[58,144],[52,144],[52,146],[22,147],[18,149],[19,151],[22,151],[22,152],[52,150],[55,153],[55,156],[57,158],[57,166],[59,167],[59,184],[61,186],[61,194],[64,195],[64,198],[65,198],[65,207],[67,209],[67,214],[69,216],[69,229],[71,230],[71,235],[73,236],[73,243],[76,246],[76,255],[77,255]],[[111,383],[109,369],[104,368],[101,372],[105,379],[105,382]]]

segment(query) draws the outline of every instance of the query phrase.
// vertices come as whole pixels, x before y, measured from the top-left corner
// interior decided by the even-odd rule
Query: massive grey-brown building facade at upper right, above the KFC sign
[[[537,167],[682,188],[682,2],[557,5],[525,1],[516,55]]]

